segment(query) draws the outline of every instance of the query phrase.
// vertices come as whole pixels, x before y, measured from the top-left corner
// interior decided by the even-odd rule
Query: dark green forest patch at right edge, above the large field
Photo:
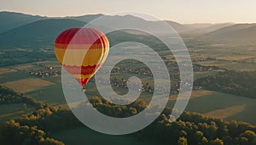
[[[208,75],[197,79],[195,86],[203,86],[212,91],[225,92],[248,98],[256,98],[256,71],[218,72],[217,75]]]

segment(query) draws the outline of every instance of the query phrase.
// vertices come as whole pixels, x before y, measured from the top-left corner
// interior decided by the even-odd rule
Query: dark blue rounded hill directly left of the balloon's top
[[[38,20],[0,34],[0,47],[42,47],[53,44],[61,31],[84,24],[79,20],[68,19]]]

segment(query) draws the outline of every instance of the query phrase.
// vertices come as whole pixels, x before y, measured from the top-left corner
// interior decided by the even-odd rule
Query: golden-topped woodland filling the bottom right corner
[[[139,137],[153,138],[167,144],[253,145],[256,127],[245,122],[226,122],[203,114],[183,112],[177,121],[170,122],[172,109],[166,108],[158,120],[146,127]]]

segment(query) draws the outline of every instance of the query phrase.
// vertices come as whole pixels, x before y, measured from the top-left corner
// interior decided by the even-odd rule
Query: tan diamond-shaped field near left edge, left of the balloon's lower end
[[[15,92],[32,92],[38,90],[44,86],[55,85],[55,83],[45,81],[38,78],[30,78],[19,81],[9,81],[3,83],[3,86],[7,86],[13,89]]]

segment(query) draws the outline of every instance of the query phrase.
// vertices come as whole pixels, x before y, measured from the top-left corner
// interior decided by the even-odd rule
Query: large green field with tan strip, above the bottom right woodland
[[[201,91],[195,93],[198,92]],[[172,107],[173,103],[173,101],[169,103],[169,106]],[[240,120],[256,125],[256,116],[253,115],[256,109],[255,104],[256,99],[253,98],[212,92],[201,97],[190,98],[185,110],[201,114],[211,113],[214,117],[224,117],[224,120]],[[218,111],[216,112],[218,114],[214,114],[212,111]],[[223,116],[223,114],[225,115]]]

